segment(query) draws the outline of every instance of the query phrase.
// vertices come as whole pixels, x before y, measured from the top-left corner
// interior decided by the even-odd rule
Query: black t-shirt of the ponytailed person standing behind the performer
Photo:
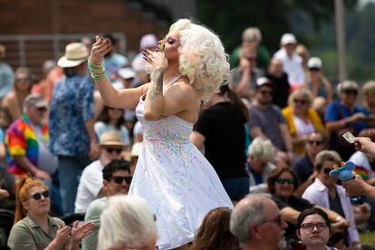
[[[236,119],[229,101],[202,111],[195,131],[205,137],[206,158],[219,178],[246,177],[245,124]]]

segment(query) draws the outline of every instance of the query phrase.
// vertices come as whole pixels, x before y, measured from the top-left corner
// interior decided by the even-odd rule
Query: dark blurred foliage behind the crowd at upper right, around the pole
[[[344,0],[344,5],[348,78],[359,83],[375,80],[375,4]],[[312,56],[322,58],[327,77],[332,82],[337,78],[333,0],[199,0],[197,21],[220,35],[228,53],[241,43],[249,26],[261,29],[262,43],[271,54],[278,50],[282,34],[293,33]]]

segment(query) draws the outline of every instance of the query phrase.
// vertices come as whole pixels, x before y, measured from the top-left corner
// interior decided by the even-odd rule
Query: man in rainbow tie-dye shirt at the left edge
[[[43,123],[47,107],[48,103],[42,96],[29,95],[24,101],[24,114],[6,131],[8,171],[15,176],[31,174],[51,180],[50,174],[39,167],[40,151],[43,147],[48,149],[48,127]]]

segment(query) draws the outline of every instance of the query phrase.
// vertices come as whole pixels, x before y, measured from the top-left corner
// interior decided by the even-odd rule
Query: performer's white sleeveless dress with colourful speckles
[[[136,115],[143,142],[130,195],[148,200],[157,216],[159,249],[193,241],[202,219],[216,207],[233,207],[216,171],[190,142],[193,123],[178,116],[145,120],[140,98]]]

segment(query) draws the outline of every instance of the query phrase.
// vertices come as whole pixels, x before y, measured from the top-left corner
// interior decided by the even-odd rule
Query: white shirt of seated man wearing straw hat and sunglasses
[[[103,168],[101,160],[97,159],[83,169],[75,198],[74,213],[86,213],[91,201],[98,197],[103,187]]]

